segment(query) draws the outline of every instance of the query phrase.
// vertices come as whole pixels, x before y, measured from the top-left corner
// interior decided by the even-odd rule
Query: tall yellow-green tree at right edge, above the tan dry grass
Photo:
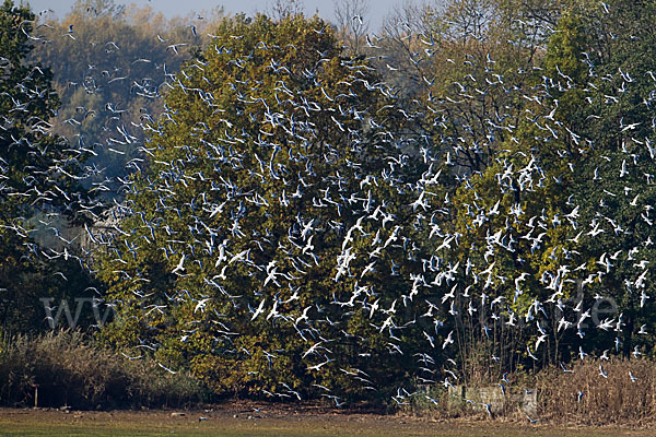
[[[597,45],[595,29],[614,34],[612,14],[563,11],[542,76],[522,90],[531,102],[522,105],[526,115],[513,139],[456,192],[465,209],[452,233],[461,234],[461,245],[442,253],[467,262],[471,277],[462,286],[482,282],[482,295],[494,303],[494,322],[460,323],[465,338],[473,332],[472,350],[493,351],[500,371],[605,350],[629,356],[647,340],[654,132],[643,123],[653,117],[654,81],[642,61],[648,50],[630,43],[652,44],[637,21],[649,20],[653,5],[635,11],[635,27],[624,29],[626,39],[607,40],[617,45],[610,48]],[[609,317],[599,318],[599,309],[610,309]],[[512,319],[517,328],[504,344],[495,331]]]

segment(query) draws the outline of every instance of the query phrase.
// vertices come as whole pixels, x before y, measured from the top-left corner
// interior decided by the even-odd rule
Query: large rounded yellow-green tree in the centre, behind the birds
[[[405,119],[317,17],[214,35],[176,75],[99,267],[119,310],[104,335],[218,392],[387,393],[418,346]]]

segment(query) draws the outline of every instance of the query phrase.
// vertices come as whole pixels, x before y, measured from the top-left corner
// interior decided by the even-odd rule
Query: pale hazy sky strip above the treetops
[[[20,3],[21,0],[14,0]],[[65,16],[75,3],[75,0],[22,0],[23,3],[30,3],[35,12],[44,9],[51,9],[58,17]],[[332,0],[301,0],[305,5],[307,14],[314,14],[317,10],[324,19],[332,21],[333,2]],[[377,32],[383,17],[388,14],[395,4],[402,4],[403,0],[370,0],[370,12],[365,17],[370,21],[370,32]],[[137,3],[138,5],[150,4],[155,10],[162,11],[166,16],[175,15],[186,16],[190,12],[209,11],[218,5],[222,5],[227,12],[245,12],[249,15],[256,11],[267,10],[273,0],[116,0],[118,4]]]

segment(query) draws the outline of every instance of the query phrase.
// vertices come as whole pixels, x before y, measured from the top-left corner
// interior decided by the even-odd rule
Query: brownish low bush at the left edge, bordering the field
[[[173,408],[206,398],[204,387],[190,375],[172,375],[151,358],[129,361],[93,345],[79,331],[16,335],[2,343],[0,404],[33,406],[37,401],[38,406],[74,409]]]

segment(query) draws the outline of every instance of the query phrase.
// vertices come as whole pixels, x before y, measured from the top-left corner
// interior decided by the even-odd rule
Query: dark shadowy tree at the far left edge
[[[47,328],[39,298],[72,297],[86,286],[72,248],[49,252],[57,259],[46,262],[31,238],[30,220],[48,213],[82,223],[89,218],[83,211],[97,212],[80,187],[86,155],[51,134],[59,105],[52,74],[26,61],[34,24],[27,8],[9,0],[0,7],[0,317],[9,332]],[[54,279],[55,272],[65,281]]]

